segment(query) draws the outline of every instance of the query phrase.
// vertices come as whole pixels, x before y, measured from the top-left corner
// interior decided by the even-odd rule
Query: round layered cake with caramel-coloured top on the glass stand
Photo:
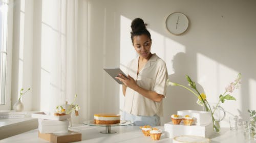
[[[118,124],[120,115],[114,113],[98,113],[94,115],[94,124]]]

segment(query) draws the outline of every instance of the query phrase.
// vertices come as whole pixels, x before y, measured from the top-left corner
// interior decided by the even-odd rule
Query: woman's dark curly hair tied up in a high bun
[[[147,25],[147,23],[144,23],[144,21],[141,18],[135,18],[132,21],[132,25],[131,25],[131,28],[132,28],[132,32],[131,32],[132,42],[133,42],[133,37],[134,36],[143,35],[143,34],[147,35],[148,38],[150,38],[150,40],[151,40],[151,34],[150,34],[150,32],[147,31],[146,25]]]

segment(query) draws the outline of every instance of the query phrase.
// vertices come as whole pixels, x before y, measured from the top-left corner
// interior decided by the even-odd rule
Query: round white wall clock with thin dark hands
[[[175,35],[184,33],[188,28],[188,19],[180,12],[170,14],[165,22],[167,30]]]

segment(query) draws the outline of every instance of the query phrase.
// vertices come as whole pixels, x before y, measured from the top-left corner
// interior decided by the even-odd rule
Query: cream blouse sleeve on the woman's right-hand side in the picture
[[[156,82],[155,82],[155,87],[154,91],[158,94],[161,95],[166,95],[166,81],[168,78],[168,73],[167,73],[167,68],[165,63],[162,64],[162,66],[159,67],[157,71],[157,76],[156,76]]]

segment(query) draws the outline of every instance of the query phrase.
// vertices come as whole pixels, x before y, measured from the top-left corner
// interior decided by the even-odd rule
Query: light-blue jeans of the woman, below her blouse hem
[[[160,126],[160,117],[154,116],[136,116],[123,111],[123,119],[133,122],[135,126]]]

